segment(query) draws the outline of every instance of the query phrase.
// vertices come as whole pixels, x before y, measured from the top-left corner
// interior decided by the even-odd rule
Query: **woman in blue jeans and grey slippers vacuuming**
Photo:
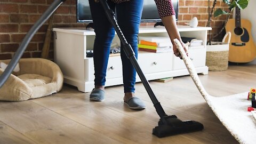
[[[171,0],[155,0],[159,16],[173,43],[173,51],[177,57],[180,57],[179,51],[173,42],[174,38],[181,41],[181,37],[176,25],[175,12]],[[115,36],[114,27],[108,21],[103,7],[99,0],[89,0],[92,13],[95,41],[93,48],[94,60],[94,85],[95,88],[90,94],[90,100],[102,101],[105,99],[106,69],[108,64],[110,45]],[[138,33],[143,7],[143,0],[109,0],[108,5],[113,11],[116,9],[118,25],[121,28],[127,42],[131,44],[138,57]],[[186,49],[185,49],[186,51]],[[138,97],[135,97],[134,85],[136,71],[130,60],[126,57],[121,46],[121,59],[123,64],[123,83],[124,83],[124,103],[131,109],[144,109],[145,103]]]

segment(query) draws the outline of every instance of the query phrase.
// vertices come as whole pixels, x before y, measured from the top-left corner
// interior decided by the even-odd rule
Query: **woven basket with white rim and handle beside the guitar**
[[[228,43],[225,43],[229,36]],[[212,45],[206,46],[206,66],[210,71],[222,71],[228,69],[228,53],[231,33],[228,32],[222,42],[212,42]]]

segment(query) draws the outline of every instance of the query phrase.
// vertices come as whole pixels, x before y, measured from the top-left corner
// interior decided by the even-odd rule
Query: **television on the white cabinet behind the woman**
[[[179,0],[172,0],[172,3],[178,20]],[[76,0],[76,18],[77,22],[92,22],[88,0]],[[144,1],[141,22],[161,22],[154,0]]]

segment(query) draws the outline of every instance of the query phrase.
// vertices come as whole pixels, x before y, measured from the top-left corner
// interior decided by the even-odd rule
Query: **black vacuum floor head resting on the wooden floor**
[[[164,116],[158,126],[153,129],[153,134],[158,138],[167,137],[170,135],[201,131],[204,129],[203,124],[196,121],[181,121],[177,116]]]

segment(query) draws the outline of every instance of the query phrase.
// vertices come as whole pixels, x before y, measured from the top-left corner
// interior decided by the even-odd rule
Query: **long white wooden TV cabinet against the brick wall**
[[[189,57],[193,59],[197,73],[208,74],[205,66],[207,30],[210,27],[178,26],[180,35],[203,39],[204,46],[189,49]],[[90,92],[94,88],[93,58],[86,58],[86,50],[93,49],[95,33],[85,28],[53,28],[54,31],[54,61],[59,65],[64,76],[64,82],[77,86],[79,91]],[[139,36],[168,36],[164,27],[142,26]],[[118,43],[116,35],[113,43]],[[139,51],[139,65],[148,80],[188,75],[188,71],[173,52],[150,53]],[[137,76],[137,82],[140,82]],[[106,86],[123,84],[122,62],[120,56],[109,57]]]

